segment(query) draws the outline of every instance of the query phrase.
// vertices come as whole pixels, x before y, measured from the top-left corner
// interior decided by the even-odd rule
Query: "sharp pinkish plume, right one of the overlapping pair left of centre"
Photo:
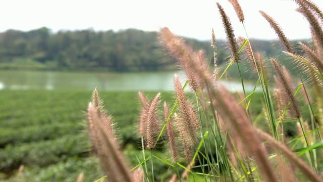
[[[156,116],[157,105],[159,103],[160,93],[158,93],[149,105],[149,109],[147,112],[147,120],[146,120],[146,149],[151,150],[155,147],[156,138],[155,133],[158,131],[158,120]]]

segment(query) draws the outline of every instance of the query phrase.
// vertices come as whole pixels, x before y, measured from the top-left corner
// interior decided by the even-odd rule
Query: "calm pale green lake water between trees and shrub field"
[[[182,71],[148,73],[89,73],[55,71],[3,71],[0,70],[0,89],[79,89],[106,91],[174,90],[174,74],[182,83],[186,78]],[[220,81],[230,90],[242,90],[241,83]],[[254,85],[245,85],[252,91]]]

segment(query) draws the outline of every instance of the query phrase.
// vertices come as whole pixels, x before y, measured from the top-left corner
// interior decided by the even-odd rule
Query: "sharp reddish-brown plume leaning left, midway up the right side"
[[[271,58],[271,62],[273,64],[273,67],[276,73],[278,74],[278,80],[283,85],[283,89],[286,94],[286,97],[288,98],[289,102],[291,102],[291,105],[288,108],[291,115],[293,117],[300,118],[301,113],[300,113],[296,98],[294,97],[293,85],[292,85],[291,79],[289,78],[290,76],[288,76],[289,73],[287,69],[286,68],[284,70],[281,69],[280,65],[277,63],[277,61],[274,58]]]

